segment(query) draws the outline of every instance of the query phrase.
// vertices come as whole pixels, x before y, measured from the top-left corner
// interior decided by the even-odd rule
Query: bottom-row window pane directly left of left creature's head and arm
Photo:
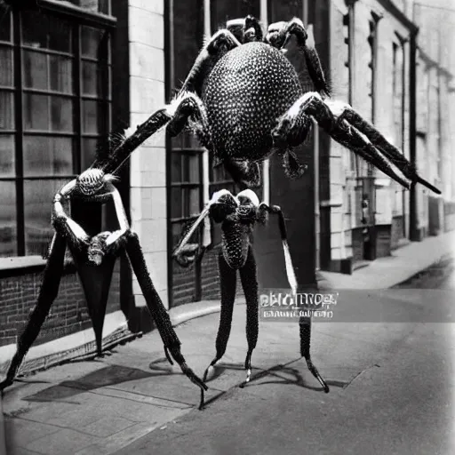
[[[25,180],[24,215],[27,255],[43,255],[52,240],[52,199],[68,180]]]

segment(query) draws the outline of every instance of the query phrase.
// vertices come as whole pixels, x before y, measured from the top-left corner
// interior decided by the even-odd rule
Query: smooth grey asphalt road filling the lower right
[[[350,315],[367,305],[386,320],[372,312],[315,324],[314,361],[329,394],[295,360],[117,453],[455,453],[453,278],[448,260],[396,289],[344,292]]]

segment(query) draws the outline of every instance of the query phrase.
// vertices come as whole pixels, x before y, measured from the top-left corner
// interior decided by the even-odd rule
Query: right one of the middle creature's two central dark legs
[[[240,269],[240,279],[246,300],[246,340],[248,342],[248,353],[245,359],[246,379],[241,385],[241,387],[244,387],[250,382],[251,354],[256,347],[259,331],[258,276],[256,274],[256,260],[254,259],[251,245],[246,262]]]

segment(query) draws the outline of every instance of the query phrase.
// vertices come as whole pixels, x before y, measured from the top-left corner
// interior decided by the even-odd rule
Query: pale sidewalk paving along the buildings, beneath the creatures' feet
[[[353,275],[321,272],[320,285],[323,289],[391,287],[443,257],[454,255],[454,243],[455,233],[411,243],[394,251],[394,256],[377,259]],[[178,325],[182,353],[199,375],[214,354],[219,307],[219,302],[198,302],[170,312],[173,323]],[[243,299],[237,299],[228,352],[222,359],[222,364],[230,366],[222,368],[220,377],[209,382],[209,401],[222,397],[244,379],[244,323]],[[330,365],[328,343],[317,339],[331,324],[319,325],[323,327],[316,327],[313,355],[322,365]],[[267,340],[264,330],[259,329],[253,374],[296,361],[296,337],[295,323],[267,323]],[[365,355],[365,364],[366,358]],[[342,363],[341,357],[339,362]],[[340,367],[337,377],[345,375],[350,381],[362,368],[363,365],[355,369]],[[198,388],[181,375],[178,366],[167,363],[162,341],[153,331],[114,347],[101,359],[55,366],[8,388],[3,399],[7,453],[114,453],[154,430],[172,425],[194,411],[198,400]]]

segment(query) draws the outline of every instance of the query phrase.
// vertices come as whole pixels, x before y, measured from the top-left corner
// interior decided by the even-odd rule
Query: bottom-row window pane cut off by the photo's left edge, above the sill
[[[17,256],[16,185],[0,181],[0,256]]]

